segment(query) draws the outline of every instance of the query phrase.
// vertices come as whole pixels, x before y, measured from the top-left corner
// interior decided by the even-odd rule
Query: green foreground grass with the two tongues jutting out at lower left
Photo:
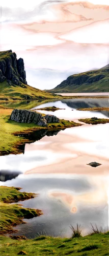
[[[12,237],[15,225],[24,223],[23,218],[41,216],[41,210],[24,208],[18,204],[11,204],[16,200],[31,198],[32,193],[19,191],[19,187],[0,186],[0,248],[1,255],[15,256],[19,252],[32,256],[46,255],[108,255],[109,232],[94,233],[83,237],[80,228],[72,228],[73,234],[68,237],[39,236],[24,240],[21,236]],[[33,194],[35,196],[35,194]]]

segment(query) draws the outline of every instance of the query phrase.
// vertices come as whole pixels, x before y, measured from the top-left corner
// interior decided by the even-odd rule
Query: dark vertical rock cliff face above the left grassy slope
[[[23,59],[17,59],[12,50],[0,52],[0,82],[5,80],[10,85],[27,84]]]

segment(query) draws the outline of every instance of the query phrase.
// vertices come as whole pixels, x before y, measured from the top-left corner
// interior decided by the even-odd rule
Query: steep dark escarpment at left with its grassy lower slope
[[[0,52],[0,100],[37,100],[59,98],[36,89],[26,81],[24,61],[12,50]]]

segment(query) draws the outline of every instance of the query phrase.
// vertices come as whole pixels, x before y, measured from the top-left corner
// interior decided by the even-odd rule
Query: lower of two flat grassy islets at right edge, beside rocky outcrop
[[[109,123],[109,119],[106,118],[86,118],[86,119],[78,119],[80,122],[88,123],[88,124],[99,124],[99,123]]]

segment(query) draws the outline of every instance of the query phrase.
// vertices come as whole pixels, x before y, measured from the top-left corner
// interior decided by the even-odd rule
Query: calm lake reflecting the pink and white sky
[[[94,116],[108,118],[103,112],[77,111],[75,104],[77,106],[86,103],[58,100],[37,105],[32,109],[53,105],[64,108],[65,110],[55,112],[40,112],[75,122],[79,122],[79,118]],[[83,125],[65,129],[57,135],[45,135],[34,143],[25,144],[24,154],[38,152],[56,156],[51,161],[25,168],[23,174],[16,179],[5,182],[7,185],[23,187],[23,191],[40,193],[39,198],[23,202],[24,206],[50,211],[50,216],[39,217],[34,222],[30,220],[27,225],[20,224],[17,234],[26,234],[32,238],[37,232],[45,230],[48,234],[58,235],[61,231],[68,231],[71,225],[82,225],[88,229],[90,225],[96,224],[107,228],[105,195],[108,188],[108,154],[93,152],[93,147],[95,143],[108,143],[108,123],[80,123]],[[95,168],[87,165],[90,162],[101,165]]]

